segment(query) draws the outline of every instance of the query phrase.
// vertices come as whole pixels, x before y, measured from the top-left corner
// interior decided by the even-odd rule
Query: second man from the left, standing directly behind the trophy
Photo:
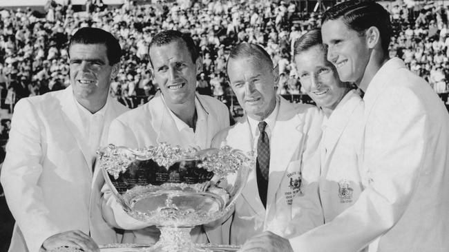
[[[169,143],[184,148],[209,148],[213,136],[229,126],[226,105],[211,96],[195,92],[196,76],[202,71],[202,58],[193,39],[175,30],[156,34],[149,45],[153,81],[161,93],[151,101],[123,114],[111,123],[108,143],[129,148],[143,148]],[[116,202],[104,185],[103,213],[114,227],[128,229],[123,242],[157,242],[160,231],[137,222]],[[194,242],[220,243],[206,233],[212,227],[195,227]]]

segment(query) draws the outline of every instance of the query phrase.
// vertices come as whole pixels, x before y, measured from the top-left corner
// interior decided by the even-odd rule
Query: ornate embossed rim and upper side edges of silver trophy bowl
[[[229,146],[223,146],[218,148],[209,149],[183,149],[180,146],[171,146],[167,143],[159,143],[158,145],[151,145],[144,148],[128,148],[124,146],[115,146],[109,144],[106,147],[99,148],[97,151],[99,160],[106,158],[106,162],[100,163],[103,176],[106,178],[109,175],[117,177],[120,173],[126,171],[124,167],[131,165],[133,160],[154,160],[158,165],[170,167],[175,162],[180,162],[182,160],[202,160],[202,167],[208,171],[213,171],[218,174],[220,178],[224,178],[228,174],[235,173],[238,171],[239,167],[247,166],[249,167],[246,175],[246,179],[254,167],[255,157],[253,152],[244,154],[240,149],[233,149]],[[117,162],[117,156],[126,156],[125,160],[121,159]],[[110,179],[105,179],[108,187],[113,191],[114,198],[122,204],[124,211],[131,213],[131,209],[128,204],[124,202],[124,199],[119,195],[120,193],[114,187]],[[246,180],[245,180],[246,183]],[[182,185],[182,184],[181,184]],[[240,186],[237,188],[233,194],[238,194],[243,190]],[[236,203],[238,197],[233,198],[228,204],[225,205],[223,213],[226,213],[233,207]],[[223,214],[224,215],[224,214]],[[133,215],[131,215],[133,216]],[[134,216],[133,216],[134,217]],[[134,217],[135,218],[135,217]]]

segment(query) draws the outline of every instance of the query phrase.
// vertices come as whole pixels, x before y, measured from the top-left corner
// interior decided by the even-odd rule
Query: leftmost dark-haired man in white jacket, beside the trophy
[[[23,98],[12,116],[1,184],[16,220],[11,252],[117,242],[99,208],[95,151],[126,107],[111,98],[121,49],[112,34],[82,28],[70,39],[70,86]],[[101,173],[99,173],[101,174]],[[97,176],[95,176],[97,178]]]

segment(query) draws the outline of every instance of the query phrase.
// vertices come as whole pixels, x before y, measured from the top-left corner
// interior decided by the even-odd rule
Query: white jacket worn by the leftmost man
[[[113,100],[106,108],[102,141],[111,120],[126,111]],[[93,182],[88,140],[79,138],[82,121],[72,87],[23,98],[12,116],[1,184],[16,220],[11,252],[37,252],[46,238],[80,230],[98,244],[117,242],[102,218]]]

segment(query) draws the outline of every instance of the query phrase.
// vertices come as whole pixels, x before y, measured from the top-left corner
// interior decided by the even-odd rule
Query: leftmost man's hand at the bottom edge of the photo
[[[98,245],[82,231],[67,231],[50,236],[42,244],[44,251],[52,251],[61,246],[82,249],[84,252],[99,252]]]

